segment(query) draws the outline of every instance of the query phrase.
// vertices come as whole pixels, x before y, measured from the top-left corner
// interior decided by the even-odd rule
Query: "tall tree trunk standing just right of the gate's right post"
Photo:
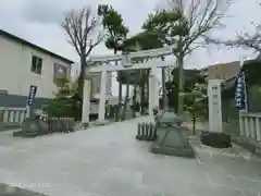
[[[184,57],[181,54],[177,57],[177,64],[178,64],[178,106],[177,106],[177,113],[183,115],[184,110],[184,70],[183,70]]]

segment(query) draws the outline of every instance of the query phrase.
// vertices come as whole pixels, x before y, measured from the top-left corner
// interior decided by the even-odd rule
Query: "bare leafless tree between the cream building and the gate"
[[[79,10],[71,9],[65,13],[61,26],[69,36],[69,42],[75,48],[80,59],[78,95],[82,97],[87,57],[103,39],[103,34],[98,30],[100,26],[99,17],[92,14],[90,7]]]

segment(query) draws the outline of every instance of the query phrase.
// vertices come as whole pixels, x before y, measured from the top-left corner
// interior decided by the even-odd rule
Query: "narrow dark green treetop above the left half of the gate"
[[[105,47],[116,53],[119,46],[126,39],[128,28],[124,26],[122,15],[111,5],[99,4],[98,15],[102,17],[102,26],[108,34]]]

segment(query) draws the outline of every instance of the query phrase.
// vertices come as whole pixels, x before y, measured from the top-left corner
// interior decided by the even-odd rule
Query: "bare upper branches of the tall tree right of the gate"
[[[227,0],[189,0],[186,7],[184,0],[170,1],[172,1],[173,10],[182,13],[187,25],[188,33],[182,39],[182,50],[181,47],[177,49],[186,54],[191,52],[190,45],[198,39],[204,40],[210,30],[221,25],[221,20],[225,17],[225,12],[231,4]]]

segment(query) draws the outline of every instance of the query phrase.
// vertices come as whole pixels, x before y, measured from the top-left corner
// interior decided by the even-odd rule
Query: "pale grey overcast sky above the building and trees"
[[[147,15],[154,10],[159,1],[163,0],[0,0],[0,28],[78,61],[77,54],[66,42],[66,36],[60,27],[64,11],[83,5],[111,4],[123,15],[130,34],[135,34],[139,32]],[[226,27],[217,32],[217,35],[227,39],[243,29],[250,29],[250,22],[259,22],[261,19],[257,0],[237,0],[227,14],[229,17],[224,20]],[[92,53],[102,54],[111,53],[111,51],[108,51],[101,44]],[[186,66],[206,66],[238,60],[239,56],[249,54],[252,52],[243,49],[227,50],[210,47],[188,57]]]

